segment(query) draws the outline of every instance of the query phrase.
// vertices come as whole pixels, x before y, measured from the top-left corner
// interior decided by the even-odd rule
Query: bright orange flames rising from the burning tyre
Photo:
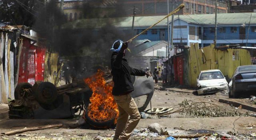
[[[114,124],[116,124],[119,112],[112,96],[113,87],[106,84],[103,74],[101,70],[98,70],[94,76],[84,80],[93,92],[88,116],[95,122],[106,122],[115,118]]]

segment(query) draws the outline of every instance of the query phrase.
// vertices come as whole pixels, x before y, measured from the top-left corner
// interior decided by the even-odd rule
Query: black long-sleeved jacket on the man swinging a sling
[[[114,88],[112,94],[115,96],[128,94],[134,90],[131,75],[145,76],[145,72],[131,68],[125,58],[124,52],[113,52],[111,57],[111,74],[113,76]]]

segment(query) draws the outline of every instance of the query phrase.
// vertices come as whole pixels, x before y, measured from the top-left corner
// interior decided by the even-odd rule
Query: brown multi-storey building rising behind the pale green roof
[[[132,15],[135,7],[137,16],[166,15],[166,0],[120,0],[125,5],[126,14]],[[169,0],[169,12],[180,4],[185,4],[185,8],[177,14],[211,14],[215,11],[215,0]],[[218,13],[226,13],[227,5],[223,0],[218,2]]]

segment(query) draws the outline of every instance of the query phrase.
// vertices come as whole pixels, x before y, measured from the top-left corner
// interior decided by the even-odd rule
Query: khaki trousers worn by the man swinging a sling
[[[114,99],[119,110],[114,140],[128,140],[140,121],[140,112],[130,94],[114,96]]]

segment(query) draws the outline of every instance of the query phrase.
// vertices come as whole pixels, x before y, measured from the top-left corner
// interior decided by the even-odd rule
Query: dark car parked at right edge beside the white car
[[[256,65],[238,66],[228,84],[229,98],[256,92]]]

